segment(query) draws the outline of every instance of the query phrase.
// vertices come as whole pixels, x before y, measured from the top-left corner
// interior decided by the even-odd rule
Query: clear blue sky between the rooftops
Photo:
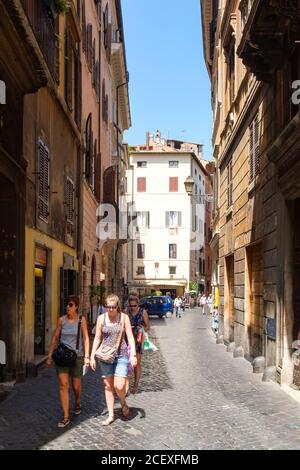
[[[210,81],[204,62],[200,0],[122,0],[132,127],[203,144],[211,159]]]

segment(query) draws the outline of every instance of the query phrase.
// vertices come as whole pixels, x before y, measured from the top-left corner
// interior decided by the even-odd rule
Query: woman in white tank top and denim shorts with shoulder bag
[[[98,317],[90,360],[92,370],[96,370],[95,355],[97,357],[97,349],[100,343],[103,346],[118,348],[116,358],[112,364],[99,360],[108,409],[108,418],[103,421],[103,426],[107,426],[114,421],[115,392],[120,399],[122,414],[124,418],[128,418],[129,408],[125,399],[125,383],[129,361],[132,367],[135,367],[137,363],[130,321],[128,316],[121,312],[120,305],[119,297],[116,295],[111,294],[106,298],[107,312]],[[125,334],[130,344],[130,357],[127,351]]]

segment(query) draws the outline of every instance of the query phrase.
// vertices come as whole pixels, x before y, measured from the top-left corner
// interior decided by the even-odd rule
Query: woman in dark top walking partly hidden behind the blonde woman
[[[147,311],[144,307],[139,306],[139,298],[137,295],[132,294],[128,299],[128,307],[126,313],[129,316],[132,332],[135,340],[137,366],[134,369],[134,394],[138,393],[139,382],[142,373],[142,354],[143,354],[143,329],[148,331],[150,329],[150,321]],[[129,379],[127,379],[127,390],[129,392]]]

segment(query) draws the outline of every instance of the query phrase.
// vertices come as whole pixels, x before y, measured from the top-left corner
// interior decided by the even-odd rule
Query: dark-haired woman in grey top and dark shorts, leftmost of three
[[[54,332],[51,346],[49,349],[47,366],[51,367],[52,364],[52,353],[60,342],[68,346],[69,348],[76,350],[77,343],[77,332],[78,332],[78,315],[79,298],[71,296],[68,298],[66,315],[58,319],[57,327]],[[90,352],[90,340],[87,330],[87,323],[84,317],[81,318],[81,325],[79,331],[79,350],[77,359],[72,367],[56,367],[56,373],[59,383],[59,397],[61,407],[63,409],[63,419],[59,421],[58,427],[64,428],[70,423],[70,412],[69,412],[69,378],[72,378],[72,387],[75,395],[75,409],[74,414],[79,415],[81,413],[81,377],[83,375],[83,364],[89,366],[89,352]]]

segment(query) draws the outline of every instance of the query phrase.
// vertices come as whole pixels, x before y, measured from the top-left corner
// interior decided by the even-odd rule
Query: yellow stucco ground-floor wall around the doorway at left
[[[25,355],[32,360],[34,355],[34,268],[35,247],[39,245],[47,249],[46,272],[46,317],[48,318],[48,333],[46,334],[46,350],[57,318],[60,314],[60,268],[63,266],[63,255],[68,253],[75,259],[75,269],[78,269],[76,251],[67,245],[43,234],[42,232],[25,227]],[[46,320],[47,321],[47,320]]]

